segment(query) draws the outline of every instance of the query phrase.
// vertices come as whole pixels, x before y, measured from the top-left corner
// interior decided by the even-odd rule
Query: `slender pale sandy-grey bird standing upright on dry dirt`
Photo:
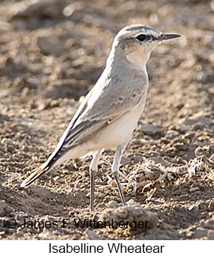
[[[115,36],[106,67],[84,97],[53,153],[21,182],[25,188],[42,174],[69,159],[92,155],[89,165],[90,207],[94,210],[95,175],[104,150],[115,150],[111,171],[122,204],[126,198],[118,180],[122,155],[145,109],[148,92],[146,64],[152,49],[180,35],[163,33],[148,25],[128,25]]]

